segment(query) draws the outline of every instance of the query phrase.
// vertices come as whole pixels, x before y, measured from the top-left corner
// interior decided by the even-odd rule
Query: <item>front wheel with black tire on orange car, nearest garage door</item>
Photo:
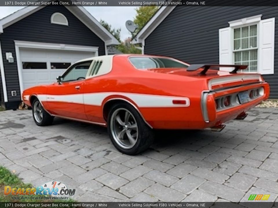
[[[36,109],[38,106],[40,106],[40,113],[42,115],[41,120],[35,118],[37,112]],[[34,99],[32,103],[32,114],[33,114],[34,121],[38,126],[48,126],[51,125],[53,122],[54,117],[45,111],[45,109],[43,108],[43,106],[41,105],[40,101],[37,98]]]

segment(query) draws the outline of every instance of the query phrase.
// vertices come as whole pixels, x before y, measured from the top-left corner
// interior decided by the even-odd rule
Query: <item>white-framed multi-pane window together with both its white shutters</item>
[[[219,29],[219,63],[248,65],[243,73],[274,74],[275,17],[259,14],[228,24]]]

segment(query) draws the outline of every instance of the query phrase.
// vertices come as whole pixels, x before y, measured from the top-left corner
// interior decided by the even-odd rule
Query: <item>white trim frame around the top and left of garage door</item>
[[[35,49],[51,49],[51,50],[66,50],[66,51],[88,51],[94,52],[98,56],[98,47],[80,46],[80,45],[66,45],[66,44],[56,44],[56,43],[43,43],[43,42],[29,42],[14,40],[15,55],[17,58],[17,73],[19,79],[19,89],[22,99],[23,92],[23,77],[21,69],[20,60],[20,48],[35,48]]]

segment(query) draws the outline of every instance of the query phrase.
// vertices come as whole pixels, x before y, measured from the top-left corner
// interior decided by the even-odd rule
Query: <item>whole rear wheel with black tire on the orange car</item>
[[[153,131],[138,111],[127,103],[118,103],[110,109],[107,126],[114,146],[127,155],[144,151],[154,139]]]

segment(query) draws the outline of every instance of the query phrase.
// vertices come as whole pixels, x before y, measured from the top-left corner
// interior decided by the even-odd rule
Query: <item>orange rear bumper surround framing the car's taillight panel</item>
[[[242,92],[250,89],[255,89],[263,87],[264,88],[264,94],[253,99],[252,101],[249,101],[248,103],[240,104],[234,107],[230,107],[228,109],[223,109],[221,111],[217,111],[215,107],[215,98],[219,96],[229,95],[235,92]],[[237,88],[232,88],[228,90],[222,90],[219,92],[209,92],[207,99],[206,99],[206,107],[207,107],[207,115],[203,116],[205,121],[205,127],[214,127],[217,125],[220,125],[224,122],[227,122],[229,120],[233,120],[237,118],[237,116],[243,112],[247,112],[249,109],[255,107],[261,101],[264,101],[268,99],[269,97],[269,84],[266,82],[256,83],[256,84],[250,84],[246,86],[241,86]],[[203,113],[206,113],[203,110]],[[205,120],[205,118],[207,120]]]

